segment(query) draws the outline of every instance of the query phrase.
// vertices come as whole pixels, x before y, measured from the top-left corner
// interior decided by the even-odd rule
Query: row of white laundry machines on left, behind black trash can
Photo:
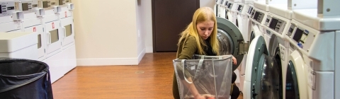
[[[57,81],[77,66],[73,10],[71,0],[0,0],[0,57],[45,62]]]

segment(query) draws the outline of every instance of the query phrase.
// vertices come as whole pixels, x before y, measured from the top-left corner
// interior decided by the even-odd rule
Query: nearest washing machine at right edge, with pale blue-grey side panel
[[[339,4],[340,1],[322,1],[322,4],[333,3]],[[300,56],[307,68],[305,75],[310,99],[334,99],[340,96],[340,87],[336,84],[340,83],[337,73],[340,70],[340,13],[336,11],[339,8],[338,5],[321,5],[318,8],[293,10],[291,23],[295,29],[288,36],[291,47],[302,53]],[[302,85],[298,86],[300,88]]]

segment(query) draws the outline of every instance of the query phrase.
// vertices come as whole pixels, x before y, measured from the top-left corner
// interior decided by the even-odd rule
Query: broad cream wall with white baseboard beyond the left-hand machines
[[[144,56],[137,0],[73,0],[78,66],[138,64]]]

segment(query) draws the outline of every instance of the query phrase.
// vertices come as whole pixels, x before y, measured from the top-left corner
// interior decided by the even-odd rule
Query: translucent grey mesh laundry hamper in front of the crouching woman
[[[174,59],[174,69],[181,99],[193,99],[187,83],[193,83],[206,98],[229,99],[232,80],[232,55]]]

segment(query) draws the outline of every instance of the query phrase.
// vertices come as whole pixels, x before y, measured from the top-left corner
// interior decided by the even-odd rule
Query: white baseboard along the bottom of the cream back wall
[[[77,59],[77,66],[138,65],[145,55],[145,49],[136,58]]]

